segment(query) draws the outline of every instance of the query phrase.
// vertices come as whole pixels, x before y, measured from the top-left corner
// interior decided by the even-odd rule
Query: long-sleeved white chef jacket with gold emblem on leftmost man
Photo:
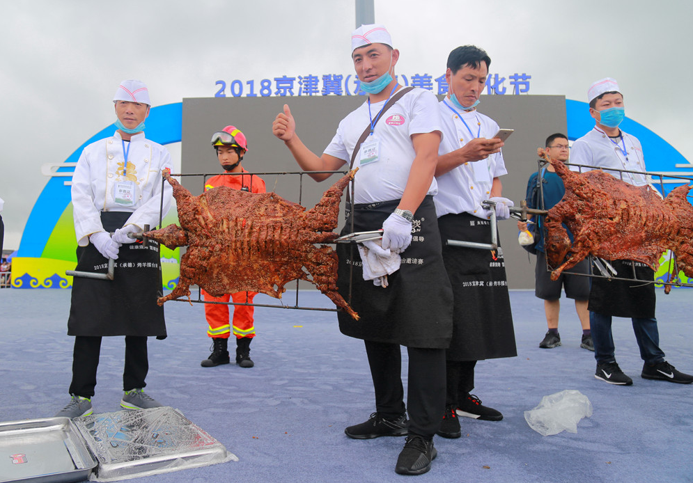
[[[86,146],[72,175],[72,207],[77,244],[87,246],[88,236],[103,231],[100,212],[132,212],[125,225],[159,223],[159,212],[166,216],[171,207],[173,189],[164,183],[164,205],[161,207],[162,170],[173,168],[171,155],[162,145],[145,138],[144,133],[130,138],[127,150],[127,180],[135,183],[134,204],[118,205],[115,201],[116,182],[125,180],[125,155],[120,133]],[[161,207],[161,209],[159,209]]]

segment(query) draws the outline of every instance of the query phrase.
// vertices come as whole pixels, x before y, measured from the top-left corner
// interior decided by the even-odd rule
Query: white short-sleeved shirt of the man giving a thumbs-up
[[[325,148],[325,154],[350,162],[361,134],[370,125],[371,118],[375,120],[386,102],[371,104],[371,116],[368,115],[368,102],[364,102],[341,120],[334,138]],[[354,167],[359,168],[355,177],[354,203],[377,203],[402,198],[416,157],[412,135],[442,132],[436,104],[437,98],[430,90],[414,88],[383,113],[373,132],[380,140],[379,159],[361,164],[361,146],[358,147],[359,154],[354,161]],[[365,143],[368,143],[368,139]],[[428,194],[436,192],[434,178]]]

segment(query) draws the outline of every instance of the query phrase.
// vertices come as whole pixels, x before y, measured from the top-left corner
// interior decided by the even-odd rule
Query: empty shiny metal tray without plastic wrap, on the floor
[[[81,482],[96,465],[69,418],[0,422],[0,482]]]

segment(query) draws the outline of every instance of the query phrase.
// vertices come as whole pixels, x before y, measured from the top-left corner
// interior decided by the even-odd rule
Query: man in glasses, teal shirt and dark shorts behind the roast
[[[570,145],[568,144],[568,136],[561,133],[552,134],[546,138],[546,152],[552,159],[557,159],[563,163],[568,162],[570,155]],[[538,189],[538,180],[541,182],[541,189]],[[536,193],[536,195],[534,194]],[[539,198],[539,194],[543,198]],[[527,182],[527,207],[534,209],[550,209],[558,203],[563,194],[566,193],[566,187],[563,186],[563,180],[556,174],[556,170],[551,164],[547,164],[542,168],[540,175],[532,173]],[[532,216],[528,215],[527,219]],[[592,343],[592,335],[589,329],[589,312],[587,310],[587,301],[589,299],[589,277],[572,274],[588,274],[589,262],[582,260],[575,267],[570,269],[570,274],[561,273],[558,280],[551,280],[551,272],[547,270],[546,253],[544,248],[544,227],[541,224],[543,219],[540,216],[536,217],[535,236],[538,237],[536,242],[536,267],[534,274],[534,294],[544,300],[544,312],[546,314],[546,324],[548,331],[544,339],[539,342],[539,347],[542,349],[553,349],[561,345],[561,335],[559,334],[559,312],[561,311],[561,288],[566,290],[568,299],[575,300],[575,311],[582,325],[582,342],[580,347],[589,351],[594,350]],[[565,226],[565,225],[564,225]],[[527,230],[527,223],[522,221],[517,222],[517,228]],[[570,241],[573,241],[573,234],[568,230]]]

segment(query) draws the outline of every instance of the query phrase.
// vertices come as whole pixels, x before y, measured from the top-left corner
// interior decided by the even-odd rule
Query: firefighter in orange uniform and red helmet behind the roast
[[[245,135],[235,126],[226,126],[219,132],[212,134],[212,146],[217,151],[217,159],[221,168],[226,173],[247,173],[241,161],[248,151],[248,142]],[[255,175],[221,174],[210,177],[205,182],[205,191],[216,187],[229,187],[249,191],[251,193],[265,193],[265,182]],[[205,302],[205,317],[207,318],[207,335],[212,338],[212,354],[201,362],[202,367],[215,367],[220,364],[228,364],[231,357],[228,355],[228,338],[231,335],[231,326],[228,324],[228,303],[233,299],[236,304],[253,303],[257,292],[237,292],[225,294],[219,297],[211,296],[202,291]],[[250,342],[255,337],[254,307],[251,305],[236,305],[233,308],[233,335],[236,340],[236,364],[240,367],[253,367],[255,363],[250,358]]]

